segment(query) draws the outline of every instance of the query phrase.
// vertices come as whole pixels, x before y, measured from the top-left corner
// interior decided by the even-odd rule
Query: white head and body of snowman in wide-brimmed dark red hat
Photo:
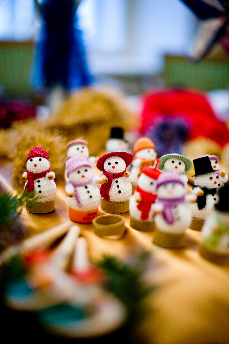
[[[121,157],[111,156],[104,162],[104,170],[110,173],[120,173],[125,171],[126,163]],[[113,168],[114,167],[114,168]],[[100,178],[105,178],[104,174]],[[112,180],[111,188],[109,190],[109,197],[111,202],[127,202],[132,193],[132,174],[129,177],[119,177]]]

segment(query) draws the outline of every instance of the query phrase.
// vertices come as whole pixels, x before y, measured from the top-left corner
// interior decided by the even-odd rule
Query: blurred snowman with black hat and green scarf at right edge
[[[201,234],[200,255],[218,264],[229,263],[229,186],[219,189],[219,202],[206,220]]]

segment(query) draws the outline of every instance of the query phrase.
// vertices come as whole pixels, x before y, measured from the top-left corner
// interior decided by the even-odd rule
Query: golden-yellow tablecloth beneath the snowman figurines
[[[0,189],[13,192],[9,171],[9,164],[2,163]],[[100,210],[101,214],[104,212]],[[154,311],[135,327],[136,335],[154,344],[229,343],[229,267],[199,256],[198,232],[187,229],[184,248],[164,249],[152,243],[153,232],[139,232],[129,226],[129,212],[123,216],[127,230],[119,240],[96,236],[90,224],[79,226],[88,240],[91,258],[106,253],[125,259],[142,249],[153,251],[159,264],[148,277],[159,288],[146,300]],[[29,235],[68,221],[64,183],[57,185],[54,213],[38,215],[23,209],[22,217]]]

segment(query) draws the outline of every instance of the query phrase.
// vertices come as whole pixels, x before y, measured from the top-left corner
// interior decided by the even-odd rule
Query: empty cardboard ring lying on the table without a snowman
[[[92,220],[95,234],[98,236],[123,234],[124,217],[121,215],[100,215]]]

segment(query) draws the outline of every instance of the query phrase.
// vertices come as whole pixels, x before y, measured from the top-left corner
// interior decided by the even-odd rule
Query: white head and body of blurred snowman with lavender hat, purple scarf
[[[159,186],[157,189],[157,196],[160,198],[166,198],[170,200],[171,198],[182,197],[186,194],[186,189],[179,183],[167,183],[165,185]],[[156,201],[154,208],[161,207],[164,208],[163,201]],[[165,221],[163,214],[156,214],[154,217],[154,223],[161,232],[172,233],[172,234],[182,234],[185,232],[186,228],[190,225],[191,215],[188,209],[187,202],[179,203],[172,209],[174,222],[169,224]]]

